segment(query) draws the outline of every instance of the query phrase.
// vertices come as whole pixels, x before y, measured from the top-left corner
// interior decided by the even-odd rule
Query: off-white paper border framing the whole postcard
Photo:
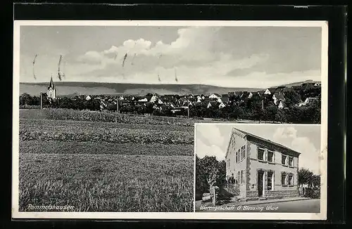
[[[321,27],[322,28],[322,140],[327,145],[327,51],[328,30],[326,21],[225,21],[225,20],[15,20],[13,22],[13,162],[12,162],[12,217],[13,218],[113,218],[113,219],[261,219],[261,220],[324,220],[326,204],[321,204],[320,214],[270,214],[270,213],[200,213],[200,212],[19,212],[19,81],[20,81],[20,26],[235,26],[235,27]],[[327,184],[327,146],[322,147],[322,185]],[[321,199],[327,193],[322,189]],[[195,192],[194,192],[195,195]],[[195,204],[195,203],[194,203]]]

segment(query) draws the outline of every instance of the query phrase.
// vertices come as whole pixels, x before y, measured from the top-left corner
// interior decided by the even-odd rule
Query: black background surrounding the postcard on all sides
[[[35,1],[40,2],[40,1]],[[152,2],[152,1],[150,1]],[[244,1],[237,1],[242,4]],[[203,3],[205,4],[205,2]],[[297,3],[298,4],[298,3]],[[316,4],[316,3],[315,3]],[[336,3],[335,3],[336,4]],[[307,4],[301,4],[307,5]],[[13,8],[12,8],[13,7]],[[11,11],[13,9],[13,11]],[[8,38],[10,44],[8,54],[3,54],[9,63],[7,71],[1,72],[1,79],[5,79],[3,85],[3,118],[5,126],[1,140],[5,140],[7,150],[2,151],[6,159],[1,159],[1,167],[8,171],[6,176],[1,176],[1,181],[6,185],[2,188],[1,195],[1,226],[4,228],[15,227],[63,227],[82,226],[95,228],[101,224],[112,224],[115,227],[136,227],[139,223],[98,223],[88,220],[46,220],[25,223],[24,220],[11,221],[11,134],[12,134],[12,74],[13,74],[13,19],[15,20],[327,20],[329,23],[329,99],[328,99],[328,199],[327,221],[310,221],[310,223],[341,224],[346,221],[346,181],[344,180],[344,131],[346,129],[346,85],[344,84],[345,61],[346,61],[346,8],[343,6],[309,6],[308,8],[296,8],[294,6],[241,6],[241,5],[146,5],[136,4],[124,6],[116,4],[15,4],[11,8],[2,8],[1,18],[11,15],[8,21],[8,33],[3,32],[2,37]],[[3,20],[4,22],[4,20]],[[3,43],[4,44],[4,43]],[[289,54],[288,54],[289,55]],[[3,58],[4,59],[4,58]],[[3,63],[4,64],[4,63]],[[5,136],[5,137],[4,137]],[[348,141],[348,140],[347,140]],[[348,159],[348,157],[347,157]],[[348,164],[348,163],[347,163]],[[347,215],[348,216],[348,215]],[[99,220],[100,222],[102,220]],[[238,226],[261,226],[263,223],[278,223],[271,226],[287,227],[297,226],[294,223],[308,223],[309,221],[217,221],[208,223],[205,221],[146,221],[149,226],[215,226],[238,227]],[[225,222],[225,224],[220,222]],[[240,223],[232,225],[232,223]],[[250,224],[244,224],[250,223]],[[257,224],[260,223],[260,224]],[[300,224],[302,226],[302,224]],[[142,223],[145,227],[145,223]],[[312,225],[307,225],[312,226]]]

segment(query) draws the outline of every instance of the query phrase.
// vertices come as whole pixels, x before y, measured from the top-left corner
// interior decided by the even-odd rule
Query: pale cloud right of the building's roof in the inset
[[[320,174],[320,149],[308,137],[297,136],[294,127],[279,127],[273,134],[273,140],[297,152],[301,152],[299,156],[299,167],[310,169],[315,174]]]

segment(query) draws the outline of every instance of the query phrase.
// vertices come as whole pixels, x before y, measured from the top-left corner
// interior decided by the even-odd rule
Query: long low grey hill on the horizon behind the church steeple
[[[115,84],[115,83],[93,83],[93,82],[56,82],[56,95],[68,96],[73,94],[84,95],[145,95],[146,93],[158,94],[210,94],[228,93],[229,91],[260,91],[255,88],[220,87],[204,84]],[[20,83],[20,94],[29,93],[32,96],[39,92],[46,92],[49,83]]]

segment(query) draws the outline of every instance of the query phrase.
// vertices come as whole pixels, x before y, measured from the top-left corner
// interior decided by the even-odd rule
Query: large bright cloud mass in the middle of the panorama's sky
[[[104,51],[88,51],[78,60],[84,63],[101,63],[92,72],[84,72],[87,77],[114,77],[125,75],[128,82],[137,83],[142,79],[157,83],[157,72],[164,83],[174,83],[175,68],[180,83],[197,84],[213,77],[224,77],[234,69],[249,68],[268,59],[265,53],[254,53],[246,58],[233,58],[230,53],[212,49],[220,28],[189,27],[178,30],[179,37],[170,44],[158,41],[152,46],[144,39],[124,41],[120,46],[111,46]],[[122,59],[127,53],[125,67]],[[115,60],[115,61],[113,61]],[[133,60],[133,63],[132,63]],[[103,66],[103,67],[102,67]],[[216,80],[215,80],[216,81]]]

